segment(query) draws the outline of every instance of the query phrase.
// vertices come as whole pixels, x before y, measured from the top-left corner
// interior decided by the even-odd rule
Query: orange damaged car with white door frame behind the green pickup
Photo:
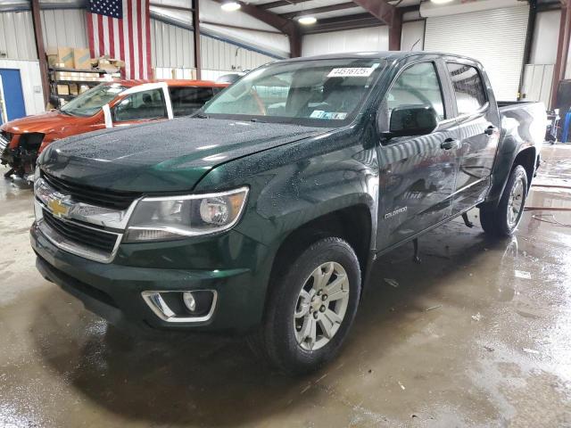
[[[53,141],[104,128],[173,119],[199,110],[226,83],[203,80],[115,80],[92,87],[61,109],[0,127],[4,174],[31,180],[37,155]]]

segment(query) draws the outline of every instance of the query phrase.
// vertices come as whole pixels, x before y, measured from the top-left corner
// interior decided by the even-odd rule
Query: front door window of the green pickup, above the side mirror
[[[389,117],[401,106],[429,106],[444,119],[443,91],[433,62],[422,62],[402,71],[386,97]]]

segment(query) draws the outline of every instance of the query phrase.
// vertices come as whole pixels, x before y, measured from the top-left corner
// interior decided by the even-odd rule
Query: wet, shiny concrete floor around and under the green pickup
[[[543,156],[535,183],[571,186],[571,147]],[[384,256],[341,355],[288,378],[243,342],[128,337],[87,312],[37,274],[31,201],[0,180],[3,428],[571,426],[569,212],[528,211],[504,241],[455,220],[422,264]],[[571,189],[528,205],[571,207]]]

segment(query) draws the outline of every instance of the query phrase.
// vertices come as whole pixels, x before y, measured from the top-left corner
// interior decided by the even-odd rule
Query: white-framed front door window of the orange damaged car
[[[150,89],[126,96],[113,109],[116,122],[167,118],[162,89]]]

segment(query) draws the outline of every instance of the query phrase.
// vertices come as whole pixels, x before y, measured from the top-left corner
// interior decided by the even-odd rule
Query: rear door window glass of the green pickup
[[[472,114],[484,107],[486,96],[480,73],[471,65],[449,62],[459,115]]]

